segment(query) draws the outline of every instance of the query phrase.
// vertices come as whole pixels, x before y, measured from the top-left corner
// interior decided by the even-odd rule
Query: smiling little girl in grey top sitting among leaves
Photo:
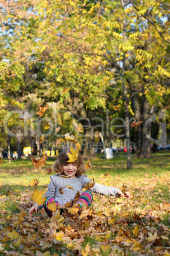
[[[51,182],[49,183],[48,191],[45,194],[46,201],[44,202],[44,205],[38,206],[37,204],[34,204],[34,206],[30,208],[29,216],[44,207],[47,215],[51,218],[53,212],[48,209],[48,204],[52,203],[53,201],[55,201],[56,206],[66,204],[67,202],[74,200],[77,191],[80,192],[81,196],[74,203],[79,204],[81,208],[83,204],[88,207],[91,206],[93,201],[91,192],[105,196],[130,197],[129,192],[125,192],[123,194],[118,188],[107,187],[97,183],[95,183],[94,187],[82,192],[82,188],[84,188],[86,183],[89,182],[88,176],[84,174],[86,172],[84,162],[80,153],[78,153],[77,160],[74,162],[68,162],[68,152],[70,153],[70,148],[63,149],[53,165],[56,173],[58,174],[50,176]],[[70,189],[69,187],[74,189]]]

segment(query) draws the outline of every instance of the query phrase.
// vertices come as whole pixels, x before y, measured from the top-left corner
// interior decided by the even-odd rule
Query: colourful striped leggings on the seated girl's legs
[[[52,203],[53,201],[55,201],[56,206],[62,205],[58,201],[56,201],[53,197],[46,198],[46,201],[44,202],[43,206],[44,206],[44,210],[46,211],[46,214],[50,218],[53,215],[53,211],[48,209],[48,204]],[[81,207],[82,207],[82,204],[86,204],[86,206],[90,207],[92,204],[92,201],[93,201],[92,193],[89,190],[86,190],[86,191],[82,192],[81,196],[75,203],[78,203]],[[60,210],[60,214],[62,214],[62,209]]]

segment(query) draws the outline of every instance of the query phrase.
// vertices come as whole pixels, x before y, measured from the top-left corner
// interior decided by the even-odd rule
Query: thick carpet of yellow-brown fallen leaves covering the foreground
[[[117,180],[119,177],[115,177]],[[141,180],[141,181],[140,181]],[[162,181],[161,181],[162,180]],[[152,193],[162,178],[153,176],[122,186],[131,198],[94,195],[91,208],[80,210],[67,204],[63,213],[57,210],[50,219],[42,209],[28,217],[30,190],[18,198],[20,213],[8,217],[1,213],[0,252],[2,255],[170,255],[170,202],[162,199],[154,204]],[[110,185],[112,176],[101,174],[100,183]],[[165,181],[164,181],[165,183]],[[162,196],[161,196],[162,195]],[[164,222],[167,218],[167,224]],[[169,218],[169,220],[168,220]],[[168,224],[169,222],[169,224]]]

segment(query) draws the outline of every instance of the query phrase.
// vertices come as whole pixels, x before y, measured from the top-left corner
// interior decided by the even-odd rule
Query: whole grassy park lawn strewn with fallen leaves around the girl
[[[104,159],[101,154],[96,156],[96,159],[91,160],[93,169],[87,171],[89,178],[94,178],[103,185],[129,190],[131,199],[127,201],[126,198],[117,199],[95,194],[93,213],[84,213],[81,224],[79,217],[69,224],[56,224],[58,237],[61,238],[56,238],[56,243],[51,243],[52,239],[49,243],[49,238],[46,238],[46,233],[51,236],[51,222],[48,223],[49,219],[43,210],[33,220],[27,216],[33,204],[31,194],[34,187],[30,186],[30,182],[33,178],[39,178],[37,188],[46,190],[50,181],[46,167],[50,167],[55,158],[48,158],[46,167],[41,169],[32,167],[30,159],[16,160],[11,164],[4,160],[0,174],[0,255],[11,251],[23,251],[25,254],[31,252],[32,255],[41,255],[46,251],[45,255],[66,252],[72,255],[77,252],[82,255],[110,255],[111,252],[114,253],[112,255],[136,255],[139,252],[143,255],[168,255],[170,152],[153,154],[150,159],[133,157],[132,170],[126,169],[124,153],[114,153],[114,159],[109,160]],[[23,210],[26,213],[20,213]],[[17,222],[17,213],[24,215],[20,223]],[[16,226],[13,225],[14,220],[18,223]],[[32,223],[36,227],[37,243],[32,232]],[[39,225],[43,234],[38,228]],[[66,228],[68,226],[72,234]],[[18,231],[20,238],[11,238],[9,232],[14,230]],[[48,246],[45,246],[46,243]]]

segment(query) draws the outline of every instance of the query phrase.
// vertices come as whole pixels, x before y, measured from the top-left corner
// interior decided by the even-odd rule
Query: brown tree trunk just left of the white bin
[[[82,157],[89,159],[95,158],[95,139],[93,134],[91,134],[91,129],[86,130]]]

